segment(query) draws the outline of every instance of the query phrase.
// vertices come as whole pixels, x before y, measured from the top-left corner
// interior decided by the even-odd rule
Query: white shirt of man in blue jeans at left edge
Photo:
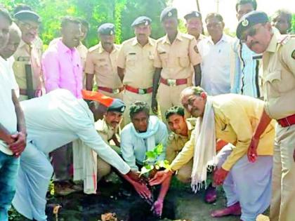
[[[15,88],[13,79],[14,74],[11,73],[8,61],[0,56],[0,123],[11,134],[16,133],[18,123],[12,100],[12,90]],[[0,140],[0,151],[8,155],[13,154],[3,140]]]

